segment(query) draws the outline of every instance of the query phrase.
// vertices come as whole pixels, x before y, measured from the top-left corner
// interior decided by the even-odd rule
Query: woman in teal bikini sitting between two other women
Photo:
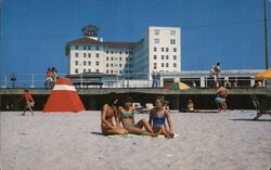
[[[152,127],[145,118],[141,119],[138,123],[134,123],[134,108],[132,106],[132,100],[126,95],[120,100],[120,106],[118,107],[120,121],[124,128],[131,134],[157,136],[152,130]],[[143,130],[142,128],[145,128]]]

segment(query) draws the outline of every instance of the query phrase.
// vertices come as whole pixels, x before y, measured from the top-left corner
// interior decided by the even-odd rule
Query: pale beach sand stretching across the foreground
[[[271,117],[171,114],[175,139],[103,136],[100,112],[1,113],[2,170],[269,170]],[[136,119],[146,117],[137,114]]]

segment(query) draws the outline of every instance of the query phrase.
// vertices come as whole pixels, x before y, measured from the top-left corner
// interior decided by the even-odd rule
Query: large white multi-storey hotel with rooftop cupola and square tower
[[[149,79],[157,71],[181,70],[179,27],[149,27],[139,42],[108,42],[96,26],[86,26],[83,38],[66,44],[69,75],[103,73],[129,79]]]

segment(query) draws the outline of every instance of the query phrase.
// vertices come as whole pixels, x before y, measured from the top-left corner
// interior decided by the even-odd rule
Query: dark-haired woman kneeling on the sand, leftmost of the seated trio
[[[111,93],[107,97],[108,104],[104,104],[101,112],[101,129],[104,135],[109,134],[128,134],[128,131],[120,127],[119,117],[117,113],[118,99],[116,93]],[[113,123],[113,117],[115,118],[116,125]]]

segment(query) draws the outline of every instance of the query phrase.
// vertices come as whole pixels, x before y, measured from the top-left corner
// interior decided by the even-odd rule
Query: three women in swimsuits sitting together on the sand
[[[107,99],[108,103],[103,106],[101,112],[101,129],[104,135],[130,133],[154,138],[162,134],[167,139],[175,136],[170,113],[166,107],[168,102],[164,96],[156,97],[156,106],[151,110],[149,120],[142,118],[137,123],[134,120],[136,109],[132,107],[130,96],[126,95],[119,100],[115,93],[111,93]],[[166,120],[168,126],[166,126]]]

